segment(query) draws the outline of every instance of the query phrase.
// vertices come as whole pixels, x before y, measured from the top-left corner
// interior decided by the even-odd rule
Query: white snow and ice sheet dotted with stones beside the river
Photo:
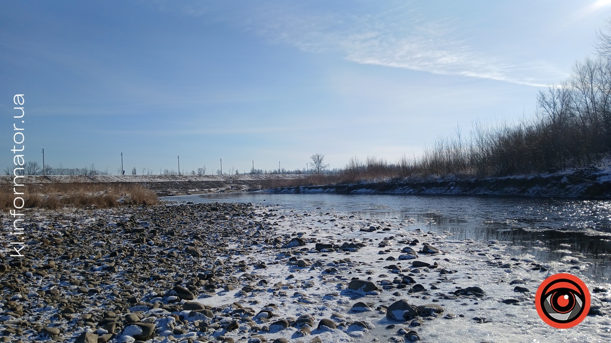
[[[281,206],[267,211],[276,215],[276,236],[284,242],[284,248],[262,244],[257,253],[239,257],[265,263],[265,268],[255,269],[252,273],[266,283],[260,284],[246,297],[239,292],[241,287],[236,287],[235,291],[221,291],[213,297],[200,297],[197,301],[209,306],[224,306],[244,298],[257,311],[265,309],[266,304],[275,304],[276,308],[272,310],[276,319],[310,314],[318,323],[320,319],[330,318],[340,326],[335,329],[315,328],[311,333],[323,342],[371,342],[375,339],[401,342],[406,339],[405,333],[411,330],[426,342],[611,341],[608,291],[611,285],[596,283],[581,275],[580,271],[587,269],[588,263],[579,261],[579,258],[540,264],[532,255],[514,255],[510,251],[513,247],[505,242],[455,240],[450,234],[411,230],[410,222],[398,219],[361,218],[321,210],[294,211]],[[367,232],[370,228],[371,232]],[[288,247],[286,244],[291,245],[291,239],[295,237],[301,238],[305,245]],[[415,239],[419,243],[409,245]],[[336,249],[318,251],[315,250],[316,243],[334,244]],[[353,252],[337,249],[337,245],[344,243],[362,243],[364,246]],[[400,258],[408,255],[402,252],[404,249],[411,247],[419,251],[425,243],[441,252],[415,253],[415,259]],[[235,256],[221,258],[225,263],[236,259]],[[299,261],[304,261],[304,267],[299,267]],[[438,265],[434,268],[413,267],[414,261]],[[394,267],[389,269],[390,265]],[[590,289],[592,306],[596,308],[594,312],[598,313],[567,330],[549,327],[538,317],[534,305],[534,295],[541,281],[559,272],[582,277]],[[400,286],[404,276],[411,276],[424,290],[417,291],[414,283]],[[352,291],[348,289],[352,278],[371,280],[380,290],[368,293]],[[454,294],[457,289],[473,286],[481,287],[485,294]],[[525,287],[529,292],[515,292],[516,286]],[[597,291],[603,291],[593,292],[595,287],[598,287]],[[400,299],[415,306],[441,305],[444,311],[421,318],[419,323],[422,325],[411,320],[388,319],[385,307]],[[517,302],[502,302],[508,299]],[[364,308],[367,311],[351,309],[357,302],[368,304],[369,308]],[[349,325],[356,321],[366,323],[367,328]],[[342,323],[345,326],[342,327]],[[231,336],[231,333],[225,336]],[[240,334],[235,336],[236,339],[240,337]],[[295,327],[270,330],[265,337],[268,341],[281,337],[304,340]]]

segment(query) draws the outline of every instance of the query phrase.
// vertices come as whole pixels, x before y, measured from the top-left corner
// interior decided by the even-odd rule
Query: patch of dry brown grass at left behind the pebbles
[[[23,189],[25,188],[25,191]],[[155,192],[139,184],[128,183],[71,183],[26,184],[16,187],[26,201],[26,208],[59,209],[64,206],[111,208],[122,205],[150,205],[158,203]],[[2,184],[0,207],[13,208],[12,184]]]

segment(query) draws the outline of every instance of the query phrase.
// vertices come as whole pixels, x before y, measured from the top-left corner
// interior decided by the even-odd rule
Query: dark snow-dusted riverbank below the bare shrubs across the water
[[[558,173],[481,179],[456,176],[395,178],[349,184],[340,182],[323,186],[281,187],[267,191],[278,193],[397,193],[611,199],[611,167],[579,168]]]

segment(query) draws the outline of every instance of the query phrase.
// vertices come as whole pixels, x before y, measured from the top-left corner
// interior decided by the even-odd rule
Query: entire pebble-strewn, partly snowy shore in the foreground
[[[611,339],[610,285],[570,252],[543,264],[398,218],[241,203],[32,209],[27,222],[26,257],[0,256],[1,342]],[[552,272],[590,288],[573,329],[536,314]]]

